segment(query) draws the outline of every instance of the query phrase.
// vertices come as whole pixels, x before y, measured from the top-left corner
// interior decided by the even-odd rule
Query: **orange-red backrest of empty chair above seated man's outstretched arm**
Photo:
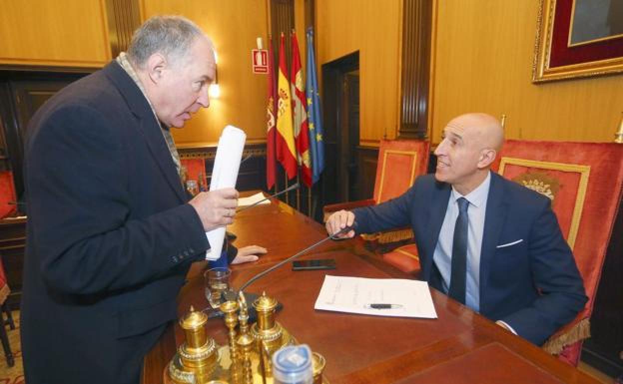
[[[376,204],[406,192],[417,176],[426,173],[430,143],[422,140],[381,140],[374,182]]]

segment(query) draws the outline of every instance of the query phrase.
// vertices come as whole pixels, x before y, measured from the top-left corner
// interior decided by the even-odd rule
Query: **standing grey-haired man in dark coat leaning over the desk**
[[[176,318],[205,232],[232,223],[235,189],[188,201],[169,127],[207,108],[212,42],[153,17],[127,54],[32,118],[21,334],[28,384],[137,383]]]

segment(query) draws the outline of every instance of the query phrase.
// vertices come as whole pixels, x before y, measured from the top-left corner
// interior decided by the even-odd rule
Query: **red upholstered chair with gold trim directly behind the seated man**
[[[623,145],[508,140],[493,169],[552,200],[589,300],[543,348],[577,365],[581,340],[590,337],[589,318],[621,203]]]

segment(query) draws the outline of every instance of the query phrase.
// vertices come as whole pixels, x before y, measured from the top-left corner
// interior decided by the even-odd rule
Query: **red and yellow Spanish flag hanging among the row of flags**
[[[285,37],[279,45],[279,74],[277,77],[277,160],[281,162],[288,179],[297,176],[297,152],[292,127],[292,97],[285,65]]]

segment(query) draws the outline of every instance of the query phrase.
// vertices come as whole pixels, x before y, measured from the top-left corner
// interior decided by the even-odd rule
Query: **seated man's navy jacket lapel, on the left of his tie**
[[[432,202],[429,210],[428,220],[428,233],[426,235],[426,250],[429,250],[430,257],[424,259],[424,265],[422,266],[422,276],[426,281],[430,280],[430,273],[432,271],[433,255],[435,253],[435,246],[439,240],[439,232],[441,226],[444,224],[445,211],[448,208],[448,199],[450,199],[450,192],[452,187],[450,184],[444,182],[435,181],[435,192],[433,192]]]

